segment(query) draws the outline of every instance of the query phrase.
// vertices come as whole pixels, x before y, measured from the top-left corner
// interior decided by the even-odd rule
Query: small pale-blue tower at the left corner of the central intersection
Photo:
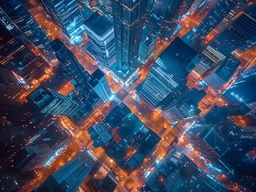
[[[103,102],[107,102],[112,98],[112,91],[104,73],[100,70],[95,70],[95,72],[91,74],[90,78],[91,79],[88,82],[89,85]]]

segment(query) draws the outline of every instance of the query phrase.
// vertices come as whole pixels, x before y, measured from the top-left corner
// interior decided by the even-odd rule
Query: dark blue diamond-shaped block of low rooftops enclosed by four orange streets
[[[109,128],[105,133],[108,135],[104,135],[106,138],[103,138],[106,142],[102,146],[105,154],[112,158],[127,174],[131,174],[136,167],[140,166],[140,163],[161,139],[156,133],[144,126],[144,123],[135,114],[132,114],[132,111],[124,103],[116,106],[106,116],[104,124]],[[100,134],[104,134],[104,132]],[[95,134],[91,134],[91,138],[97,140]],[[128,153],[129,151],[131,152]]]

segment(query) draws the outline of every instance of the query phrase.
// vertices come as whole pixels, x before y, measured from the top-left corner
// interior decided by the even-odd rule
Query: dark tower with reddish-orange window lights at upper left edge
[[[0,66],[13,71],[17,80],[26,86],[26,82],[36,84],[49,70],[47,62],[37,58],[22,42],[14,38],[0,25]]]

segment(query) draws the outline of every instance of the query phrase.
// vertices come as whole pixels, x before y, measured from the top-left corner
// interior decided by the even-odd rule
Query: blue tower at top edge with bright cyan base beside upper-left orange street
[[[83,15],[77,0],[43,0],[51,19],[69,38],[83,31]]]

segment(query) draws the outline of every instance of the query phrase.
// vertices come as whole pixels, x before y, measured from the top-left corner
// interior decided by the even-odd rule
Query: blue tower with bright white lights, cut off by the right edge
[[[256,102],[254,89],[251,88],[255,86],[256,74],[239,78],[221,95],[221,98],[224,98],[230,104]]]

